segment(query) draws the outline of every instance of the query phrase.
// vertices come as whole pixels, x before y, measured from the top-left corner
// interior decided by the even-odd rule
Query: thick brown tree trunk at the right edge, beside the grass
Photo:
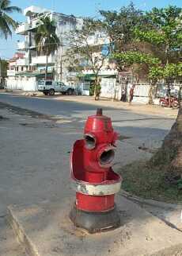
[[[153,165],[165,165],[165,171],[182,175],[182,106],[161,149],[155,153],[150,162]]]

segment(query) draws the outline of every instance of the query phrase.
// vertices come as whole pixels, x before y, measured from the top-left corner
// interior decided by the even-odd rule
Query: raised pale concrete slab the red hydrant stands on
[[[14,205],[9,223],[31,256],[181,255],[182,233],[118,196],[121,226],[89,235],[69,219],[72,197],[31,206]]]

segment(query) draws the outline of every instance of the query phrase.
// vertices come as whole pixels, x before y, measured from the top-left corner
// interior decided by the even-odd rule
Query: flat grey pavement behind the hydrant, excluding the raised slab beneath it
[[[74,192],[70,189],[69,157],[73,142],[82,138],[82,130],[69,123],[33,118],[33,113],[0,107],[0,255],[23,256],[6,225],[9,204],[38,204],[59,200]],[[55,120],[56,121],[56,120]],[[123,145],[127,152],[123,152]],[[122,162],[120,159],[123,152]],[[127,142],[119,142],[115,168],[135,159],[149,158],[150,153]]]

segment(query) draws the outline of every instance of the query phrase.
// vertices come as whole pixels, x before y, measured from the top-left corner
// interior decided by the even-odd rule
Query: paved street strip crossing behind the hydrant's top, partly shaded
[[[16,107],[51,114],[59,117],[65,126],[82,128],[86,117],[94,114],[97,106],[57,101],[54,99],[38,99],[18,95],[0,93],[0,102],[9,103]],[[161,140],[168,133],[174,120],[156,115],[135,114],[127,110],[103,107],[104,114],[112,118],[113,126],[120,134],[131,137],[131,143],[150,148],[160,145]],[[130,140],[128,141],[130,142]]]

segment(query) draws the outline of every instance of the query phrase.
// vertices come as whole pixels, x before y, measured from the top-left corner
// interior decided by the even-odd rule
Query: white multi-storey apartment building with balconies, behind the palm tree
[[[26,21],[21,23],[16,30],[16,33],[22,36],[22,41],[17,42],[17,50],[20,54],[23,54],[23,57],[15,60],[13,64],[9,62],[7,87],[36,91],[36,81],[44,79],[46,56],[38,55],[35,43],[35,34],[40,24],[40,17],[50,17],[51,21],[55,21],[56,33],[61,42],[59,49],[48,56],[47,78],[50,80],[63,80],[64,83],[67,83],[69,71],[67,70],[64,56],[69,45],[66,42],[66,33],[82,27],[82,18],[74,17],[74,15],[59,14],[38,6],[29,6],[24,10],[24,15]]]

